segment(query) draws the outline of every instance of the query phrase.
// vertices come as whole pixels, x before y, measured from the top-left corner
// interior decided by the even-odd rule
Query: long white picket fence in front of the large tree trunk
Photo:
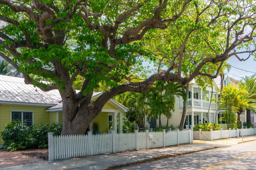
[[[53,136],[48,133],[49,161],[79,156],[116,153],[138,149],[192,143],[191,130],[166,132],[111,133],[93,135]]]

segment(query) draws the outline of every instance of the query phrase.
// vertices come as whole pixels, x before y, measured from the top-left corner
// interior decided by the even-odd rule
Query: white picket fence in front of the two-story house
[[[243,130],[243,131],[241,131]],[[249,128],[249,129],[231,129],[229,130],[210,130],[210,131],[193,131],[193,139],[200,139],[200,140],[214,140],[214,139],[223,139],[223,138],[233,138],[242,136],[250,136],[256,135],[256,128]]]

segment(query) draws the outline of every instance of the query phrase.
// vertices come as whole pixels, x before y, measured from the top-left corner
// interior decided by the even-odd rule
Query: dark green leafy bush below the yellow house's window
[[[1,131],[4,146],[7,150],[19,150],[37,147],[48,147],[48,132],[60,135],[62,125],[46,124],[32,127],[26,123],[15,120],[6,125]]]

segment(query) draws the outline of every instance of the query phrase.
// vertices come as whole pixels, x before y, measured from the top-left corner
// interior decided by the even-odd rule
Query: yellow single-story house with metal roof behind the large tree
[[[92,101],[103,93],[94,92]],[[127,111],[128,108],[110,99],[93,122],[99,123],[100,133],[108,133],[108,123],[113,120],[113,130],[117,132],[118,116],[119,132],[122,132],[122,115]],[[35,126],[50,122],[62,124],[62,102],[58,90],[45,92],[33,85],[26,85],[23,78],[0,75],[0,130],[15,119]],[[93,122],[88,127],[90,131]]]

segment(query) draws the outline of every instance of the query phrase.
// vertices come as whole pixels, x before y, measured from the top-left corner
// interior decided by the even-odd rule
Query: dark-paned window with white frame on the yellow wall
[[[26,111],[12,111],[12,121],[20,120],[29,126],[33,125],[33,112]]]

